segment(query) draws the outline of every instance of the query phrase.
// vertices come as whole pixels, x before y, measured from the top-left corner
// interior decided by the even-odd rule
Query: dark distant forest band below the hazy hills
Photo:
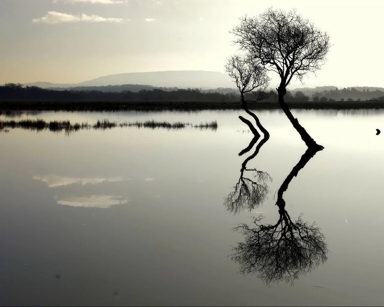
[[[118,86],[82,86],[71,89],[42,89],[37,86],[23,86],[18,83],[7,83],[0,86],[0,100],[93,100],[93,101],[230,101],[237,102],[240,96],[234,89],[219,87],[213,90],[154,88],[136,84]],[[130,88],[131,90],[128,90]],[[265,101],[277,101],[277,93],[271,90],[271,95]],[[311,96],[310,96],[311,95]],[[254,100],[252,94],[247,94],[247,100]],[[384,91],[376,89],[369,91],[363,88],[325,89],[313,91],[287,91],[286,101],[384,101]]]

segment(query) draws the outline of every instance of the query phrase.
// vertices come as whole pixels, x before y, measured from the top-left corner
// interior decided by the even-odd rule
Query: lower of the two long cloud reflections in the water
[[[89,195],[89,196],[55,196],[58,205],[73,207],[110,208],[111,206],[124,205],[129,200],[127,196]]]

